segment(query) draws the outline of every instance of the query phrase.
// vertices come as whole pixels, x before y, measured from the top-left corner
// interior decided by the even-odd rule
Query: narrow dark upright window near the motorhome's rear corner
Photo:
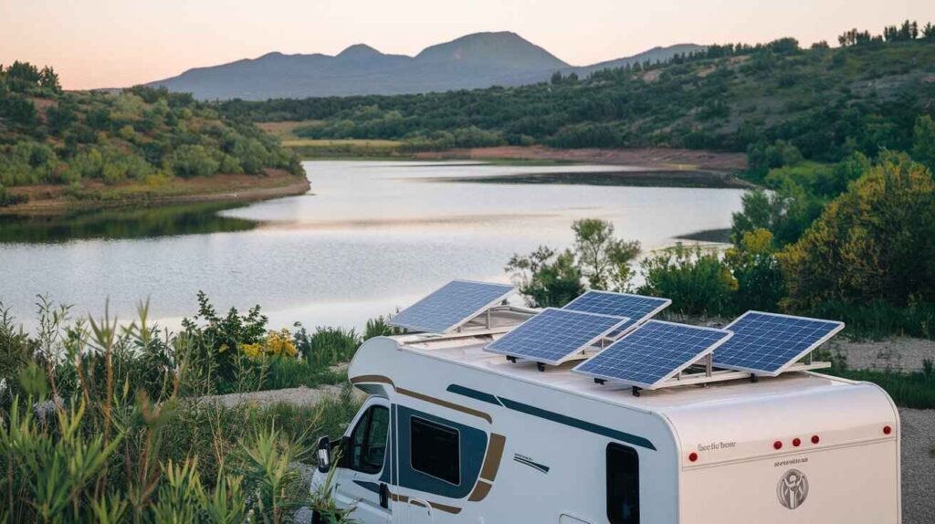
[[[607,518],[611,524],[640,522],[640,455],[632,447],[607,446]]]

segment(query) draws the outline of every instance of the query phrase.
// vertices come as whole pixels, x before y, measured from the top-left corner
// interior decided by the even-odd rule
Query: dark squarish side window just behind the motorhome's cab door
[[[410,457],[412,469],[432,475],[455,486],[461,484],[461,437],[457,430],[410,418]]]

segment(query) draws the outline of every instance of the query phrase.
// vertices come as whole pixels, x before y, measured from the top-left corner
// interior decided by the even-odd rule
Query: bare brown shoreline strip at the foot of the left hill
[[[25,194],[24,204],[0,207],[0,216],[59,215],[88,209],[129,206],[161,206],[184,203],[256,202],[309,191],[309,179],[279,169],[264,175],[214,175],[173,178],[164,184],[145,183],[82,187],[80,196],[69,194],[68,186],[41,185],[10,188],[12,194]]]

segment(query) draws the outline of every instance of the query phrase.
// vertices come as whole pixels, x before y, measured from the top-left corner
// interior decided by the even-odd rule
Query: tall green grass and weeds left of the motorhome
[[[200,397],[217,380],[204,332],[160,333],[146,304],[129,326],[39,307],[35,338],[0,307],[0,522],[278,523],[301,505],[333,509],[295,466],[344,431],[359,407],[350,386],[316,405],[223,407]],[[318,336],[321,365],[353,354],[359,340],[339,335]],[[229,363],[256,374],[252,387],[296,366],[308,384],[341,376],[263,361]]]

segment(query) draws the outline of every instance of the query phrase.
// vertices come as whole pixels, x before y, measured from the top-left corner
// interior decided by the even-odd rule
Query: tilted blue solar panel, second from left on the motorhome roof
[[[593,346],[626,320],[548,307],[488,344],[484,350],[558,365]]]

